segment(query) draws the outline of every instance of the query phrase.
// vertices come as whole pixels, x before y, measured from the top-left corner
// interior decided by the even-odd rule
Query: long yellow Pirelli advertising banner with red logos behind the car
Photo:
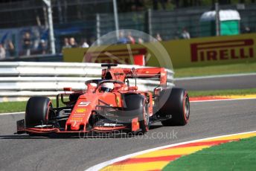
[[[131,63],[130,54],[144,55],[146,65],[159,66],[159,58],[149,44],[110,45],[100,55],[86,53],[88,48],[64,49],[65,62],[119,62]],[[256,33],[238,36],[215,36],[196,39],[182,39],[161,42],[173,63],[173,68],[256,62]],[[102,53],[103,52],[103,53]],[[95,54],[97,59],[94,60]],[[112,57],[111,57],[112,56]]]

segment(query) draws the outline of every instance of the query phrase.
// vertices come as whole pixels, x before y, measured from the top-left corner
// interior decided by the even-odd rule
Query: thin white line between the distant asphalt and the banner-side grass
[[[180,78],[175,78],[174,81],[179,81],[179,80],[199,80],[199,79],[223,78],[223,77],[243,77],[243,76],[253,76],[253,75],[256,75],[256,73],[223,74],[223,75],[210,75],[210,76],[199,76],[199,77],[180,77]]]

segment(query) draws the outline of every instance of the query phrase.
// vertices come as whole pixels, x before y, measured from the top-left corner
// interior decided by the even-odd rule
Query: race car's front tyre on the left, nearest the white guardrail
[[[52,108],[48,97],[31,97],[26,106],[25,125],[29,127],[47,123],[53,117]]]

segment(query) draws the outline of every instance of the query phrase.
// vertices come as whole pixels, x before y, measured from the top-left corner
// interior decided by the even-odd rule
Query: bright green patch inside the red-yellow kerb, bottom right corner
[[[255,170],[256,137],[202,149],[170,162],[165,170]]]

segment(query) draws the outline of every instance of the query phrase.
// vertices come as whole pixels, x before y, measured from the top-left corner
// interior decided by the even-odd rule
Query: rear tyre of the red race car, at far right
[[[163,101],[164,94],[170,94]],[[182,88],[168,88],[161,91],[160,103],[164,105],[159,110],[162,114],[171,114],[171,118],[161,121],[163,126],[185,126],[190,115],[188,92]]]

